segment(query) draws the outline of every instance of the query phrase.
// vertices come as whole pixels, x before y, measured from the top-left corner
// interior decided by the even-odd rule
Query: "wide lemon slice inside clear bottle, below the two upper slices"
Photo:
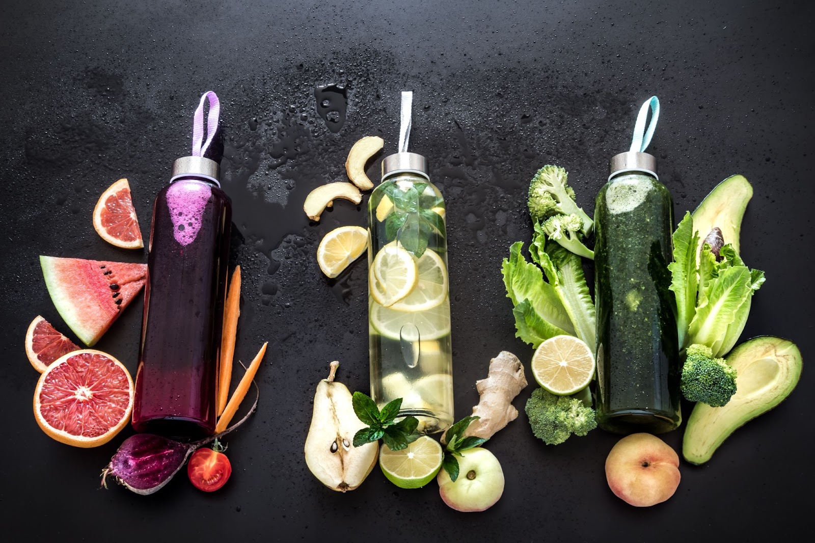
[[[379,303],[372,303],[368,311],[368,319],[377,332],[385,338],[396,341],[401,339],[403,327],[406,324],[413,324],[419,331],[418,339],[425,342],[430,339],[443,338],[450,333],[450,304],[441,303],[427,311],[396,311],[389,307],[382,307]],[[412,326],[409,328],[411,330],[408,341],[414,341],[416,339],[415,329]]]

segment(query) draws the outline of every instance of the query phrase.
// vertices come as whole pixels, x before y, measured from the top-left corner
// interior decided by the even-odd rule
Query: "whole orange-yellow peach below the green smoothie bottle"
[[[611,492],[637,507],[656,505],[672,497],[679,479],[679,456],[655,435],[627,435],[606,458],[606,480]]]

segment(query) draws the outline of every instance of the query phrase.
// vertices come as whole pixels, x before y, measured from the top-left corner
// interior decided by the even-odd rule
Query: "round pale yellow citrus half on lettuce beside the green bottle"
[[[555,336],[541,343],[532,355],[535,381],[552,394],[575,394],[592,382],[594,354],[574,336]]]

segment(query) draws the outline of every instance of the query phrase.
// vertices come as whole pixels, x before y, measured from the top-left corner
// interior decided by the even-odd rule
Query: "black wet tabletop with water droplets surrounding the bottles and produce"
[[[363,135],[395,151],[402,90],[415,93],[411,150],[428,157],[447,199],[457,417],[477,403],[474,382],[499,351],[528,369],[531,348],[513,338],[500,276],[509,245],[530,237],[528,179],[546,163],[564,166],[592,210],[608,158],[628,149],[637,109],[654,94],[662,114],[650,152],[677,217],[730,174],[753,183],[742,256],[768,280],[742,338],[791,338],[804,358],[813,350],[811,2],[608,4],[2,2],[4,532],[12,541],[762,541],[803,526],[815,483],[807,370],[706,466],[683,461],[675,496],[649,509],[606,485],[616,436],[596,430],[549,447],[523,414],[487,444],[506,488],[480,514],[448,509],[435,483],[395,488],[378,468],[359,489],[330,492],[303,460],[316,383],[340,360],[339,379],[366,391],[368,340],[364,259],[337,280],[315,262],[326,232],[365,224],[364,206],[340,201],[311,223],[302,201],[345,179]],[[244,271],[236,355],[248,361],[270,342],[258,413],[227,439],[234,472],[214,494],[183,474],[152,497],[98,490],[126,433],[70,448],[31,414],[37,374],[25,330],[42,314],[68,333],[37,255],[145,262],[146,251],[96,235],[93,207],[130,179],[148,236],[152,199],[188,154],[208,90],[222,101],[232,263]],[[140,306],[96,346],[131,371]],[[681,449],[681,430],[663,439]]]

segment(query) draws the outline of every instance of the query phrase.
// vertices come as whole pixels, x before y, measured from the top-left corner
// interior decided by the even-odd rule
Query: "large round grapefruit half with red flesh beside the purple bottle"
[[[108,443],[130,422],[133,379],[111,355],[82,349],[48,366],[34,389],[34,418],[47,435],[74,447]]]

